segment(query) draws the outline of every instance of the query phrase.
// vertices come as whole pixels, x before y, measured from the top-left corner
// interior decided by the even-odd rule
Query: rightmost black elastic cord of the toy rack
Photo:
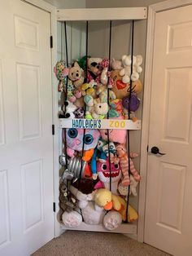
[[[133,73],[133,42],[134,42],[134,20],[132,20],[132,37],[131,37],[131,75]],[[131,105],[131,94],[132,94],[132,79],[130,77],[130,93],[129,93],[129,119],[130,119],[130,105]],[[128,163],[129,163],[129,180],[130,180],[130,174],[131,174],[131,166],[130,166],[130,136],[129,136],[129,130],[127,131],[127,138],[128,138]],[[127,195],[127,207],[126,207],[126,223],[129,223],[128,218],[128,209],[129,209],[129,192],[130,192],[130,183],[128,187],[128,195]]]

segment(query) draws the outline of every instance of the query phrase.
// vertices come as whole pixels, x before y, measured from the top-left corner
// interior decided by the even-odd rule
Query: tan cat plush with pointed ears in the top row
[[[72,67],[69,68],[68,78],[72,81],[76,88],[79,88],[84,82],[84,73],[79,64],[75,62]]]

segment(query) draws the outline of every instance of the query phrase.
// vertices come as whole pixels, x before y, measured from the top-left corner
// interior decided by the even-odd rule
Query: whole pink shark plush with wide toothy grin
[[[107,188],[110,189],[110,163],[107,157],[105,163],[97,162],[98,178],[100,179],[98,183],[94,186],[95,189]],[[120,165],[111,163],[111,192],[113,194],[118,194],[117,188],[118,183],[121,178]]]

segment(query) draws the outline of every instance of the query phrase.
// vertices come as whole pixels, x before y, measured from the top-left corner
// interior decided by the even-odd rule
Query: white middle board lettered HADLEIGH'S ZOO
[[[60,118],[59,128],[141,130],[141,120]]]

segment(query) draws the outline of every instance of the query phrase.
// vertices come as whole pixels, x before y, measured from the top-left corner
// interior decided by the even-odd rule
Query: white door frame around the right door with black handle
[[[167,11],[177,7],[191,5],[192,0],[168,0],[159,2],[148,7],[147,32],[146,32],[146,61],[144,78],[144,95],[142,108],[142,140],[141,140],[141,164],[140,173],[142,182],[139,186],[138,201],[138,226],[137,241],[144,241],[145,212],[146,212],[146,186],[147,186],[147,146],[149,142],[150,109],[151,109],[151,88],[153,71],[153,49],[155,37],[155,15],[160,11]]]

